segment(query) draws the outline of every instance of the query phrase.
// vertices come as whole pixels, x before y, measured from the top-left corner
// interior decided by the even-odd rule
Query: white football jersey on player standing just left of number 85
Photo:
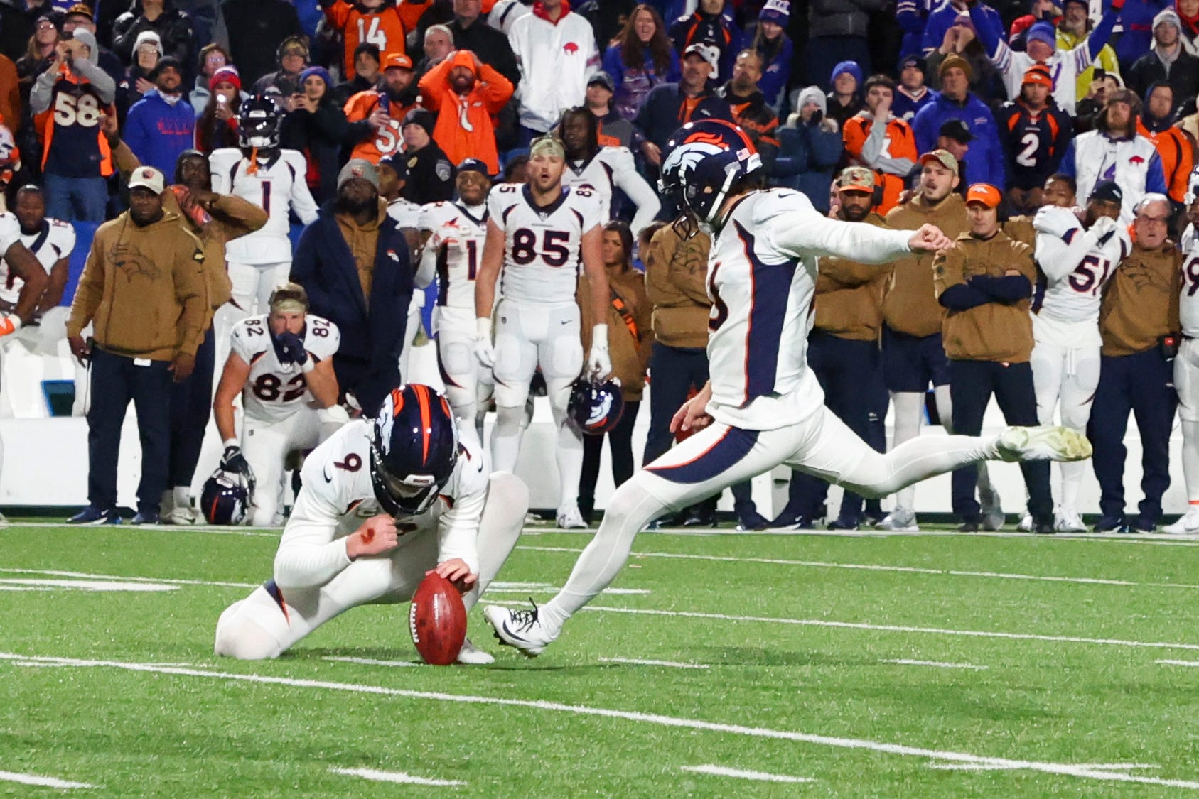
[[[487,240],[487,206],[429,202],[421,210],[421,231],[433,234],[438,250],[438,305],[475,310],[475,273]]]

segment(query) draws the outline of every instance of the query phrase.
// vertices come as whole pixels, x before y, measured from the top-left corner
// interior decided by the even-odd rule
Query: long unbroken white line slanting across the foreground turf
[[[885,742],[867,740],[862,738],[840,738],[836,736],[820,736],[788,730],[771,730],[767,727],[748,727],[735,724],[723,724],[703,721],[699,719],[686,719],[680,716],[659,715],[656,713],[643,713],[634,710],[617,710],[611,708],[600,708],[585,704],[565,704],[562,702],[548,702],[544,700],[517,700],[499,696],[476,696],[463,694],[445,694],[438,691],[414,691],[397,688],[384,688],[380,685],[361,685],[355,683],[331,683],[318,679],[297,679],[291,677],[272,677],[269,674],[239,674],[233,672],[201,671],[195,668],[176,668],[168,666],[151,666],[149,664],[123,662],[118,660],[84,660],[76,658],[52,658],[48,655],[23,655],[11,652],[0,652],[0,660],[26,660],[56,662],[65,666],[104,667],[120,668],[132,672],[151,672],[158,674],[175,674],[179,677],[199,677],[201,679],[219,679],[229,682],[254,683],[260,685],[284,685],[288,688],[309,688],[327,691],[344,691],[349,694],[367,694],[373,696],[393,696],[409,700],[429,700],[434,702],[456,702],[462,704],[494,704],[510,708],[529,708],[534,710],[549,710],[554,713],[567,713],[582,716],[594,716],[602,719],[620,719],[635,724],[657,725],[662,727],[674,727],[680,730],[694,730],[703,732],[716,732],[733,736],[745,736],[748,738],[761,738],[772,740],[788,740],[817,746],[832,746],[836,749],[866,750],[887,755],[899,755],[904,757],[922,757],[938,762],[971,763],[978,765],[995,765],[1013,770],[1041,771],[1043,774],[1058,774],[1084,780],[1098,780],[1111,782],[1135,782],[1141,785],[1159,785],[1170,788],[1188,788],[1199,791],[1199,781],[1194,780],[1170,780],[1162,777],[1149,777],[1125,774],[1117,770],[1095,769],[1072,763],[1050,763],[1042,761],[1024,761],[1006,757],[986,757],[968,752],[941,751],[926,749],[922,746],[908,746],[905,744],[890,744]]]

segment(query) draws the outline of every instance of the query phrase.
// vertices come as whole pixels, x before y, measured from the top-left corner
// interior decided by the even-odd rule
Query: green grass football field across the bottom
[[[526,535],[500,580],[562,585],[585,534]],[[492,667],[415,668],[325,660],[415,660],[406,605],[356,609],[278,661],[212,655],[217,616],[249,588],[170,592],[6,591],[58,580],[12,569],[258,583],[277,535],[179,528],[0,529],[0,653],[319,680],[260,684],[113,666],[36,667],[0,660],[0,771],[92,783],[88,795],[1162,795],[1199,781],[1199,648],[1012,640],[933,631],[584,611],[544,655],[501,649],[478,609],[476,644]],[[1199,644],[1199,543],[970,535],[643,534],[615,588],[594,605],[770,619],[998,631]],[[528,547],[562,547],[544,551]],[[843,569],[824,564],[888,567]],[[890,567],[941,570],[897,571]],[[1090,577],[1135,585],[1005,579]],[[538,593],[535,599],[548,599]],[[530,593],[505,589],[493,600]],[[486,600],[484,600],[486,601]],[[683,670],[604,662],[705,664]],[[986,670],[898,665],[910,659]],[[378,686],[444,695],[379,695]],[[584,706],[716,725],[868,742],[832,745],[604,718],[541,706],[446,701],[493,697]],[[752,732],[752,730],[751,730]],[[1035,761],[1107,779],[1037,769],[941,769],[944,757],[869,744]],[[781,785],[693,774],[724,768],[813,780]],[[978,765],[978,763],[959,763]],[[1054,768],[1056,768],[1054,767]],[[331,771],[369,768],[460,780],[399,786]],[[1054,768],[1049,768],[1052,771]],[[1062,770],[1062,769],[1056,769]],[[1073,769],[1077,771],[1077,768]],[[0,781],[0,794],[54,793]]]

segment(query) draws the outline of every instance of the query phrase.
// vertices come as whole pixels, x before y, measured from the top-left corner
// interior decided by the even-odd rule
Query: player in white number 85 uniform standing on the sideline
[[[496,471],[516,471],[529,381],[541,367],[558,425],[558,523],[578,528],[586,527],[577,507],[583,436],[567,423],[566,405],[571,383],[583,370],[579,307],[574,302],[580,262],[591,292],[592,319],[608,319],[610,295],[601,256],[598,198],[590,189],[564,188],[565,169],[562,143],[544,135],[530,149],[529,183],[492,189],[487,241],[475,283],[475,352],[495,373],[492,459]],[[498,278],[500,302],[494,311],[493,344]],[[592,328],[586,371],[601,379],[611,371],[607,325]]]

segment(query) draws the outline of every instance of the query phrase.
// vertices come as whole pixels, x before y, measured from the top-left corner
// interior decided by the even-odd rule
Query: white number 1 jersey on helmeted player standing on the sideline
[[[291,260],[289,214],[306,225],[317,220],[317,202],[308,190],[308,161],[297,150],[277,150],[270,159],[258,161],[249,172],[249,158],[236,147],[222,147],[209,156],[212,190],[233,194],[266,211],[269,218],[260,230],[240,236],[225,244],[230,264],[285,264]]]

